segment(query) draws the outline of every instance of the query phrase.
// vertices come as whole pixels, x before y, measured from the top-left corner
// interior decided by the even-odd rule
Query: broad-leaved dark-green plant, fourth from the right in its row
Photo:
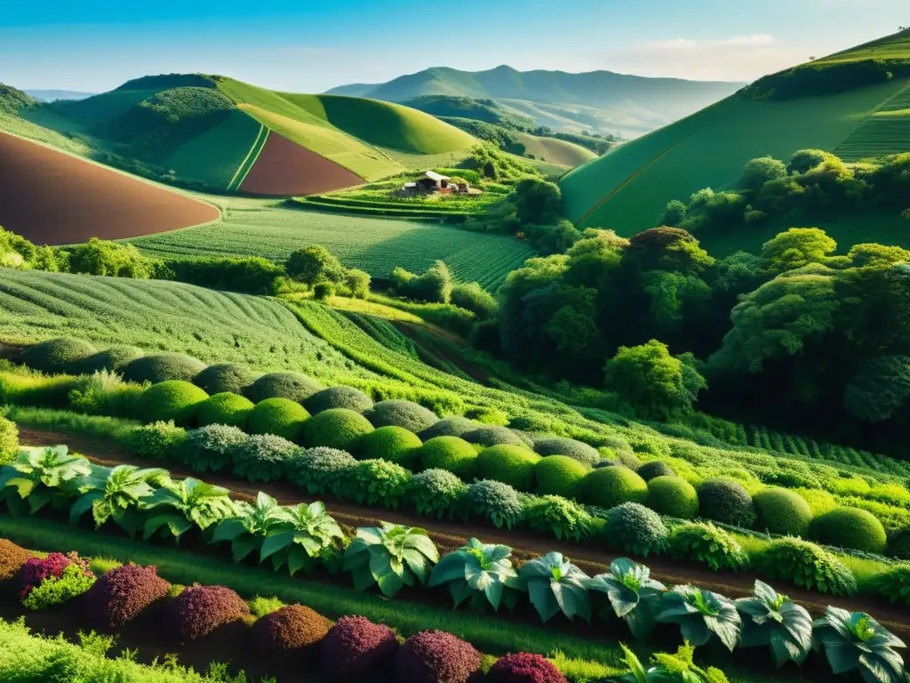
[[[623,619],[632,636],[641,640],[654,630],[654,612],[666,586],[651,577],[651,570],[625,557],[610,563],[610,571],[588,582],[592,591],[605,593],[613,613]]]

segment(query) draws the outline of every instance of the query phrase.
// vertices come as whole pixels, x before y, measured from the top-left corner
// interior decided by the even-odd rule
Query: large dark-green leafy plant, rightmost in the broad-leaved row
[[[834,675],[856,671],[866,683],[905,681],[904,641],[864,612],[828,606],[813,623],[813,647],[824,652]]]

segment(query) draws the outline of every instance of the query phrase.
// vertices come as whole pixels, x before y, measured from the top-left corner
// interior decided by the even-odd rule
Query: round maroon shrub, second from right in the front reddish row
[[[480,668],[480,652],[442,631],[421,631],[395,657],[395,679],[408,683],[468,683]]]

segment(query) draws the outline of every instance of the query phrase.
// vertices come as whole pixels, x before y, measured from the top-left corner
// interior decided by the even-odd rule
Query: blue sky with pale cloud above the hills
[[[501,64],[751,80],[898,25],[907,0],[0,0],[0,82],[99,92],[202,71],[321,92]]]

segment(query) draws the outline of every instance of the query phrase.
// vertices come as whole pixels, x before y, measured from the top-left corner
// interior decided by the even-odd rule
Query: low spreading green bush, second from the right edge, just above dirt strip
[[[779,538],[752,558],[753,566],[770,578],[792,581],[796,586],[850,596],[856,579],[834,555],[800,538]]]

